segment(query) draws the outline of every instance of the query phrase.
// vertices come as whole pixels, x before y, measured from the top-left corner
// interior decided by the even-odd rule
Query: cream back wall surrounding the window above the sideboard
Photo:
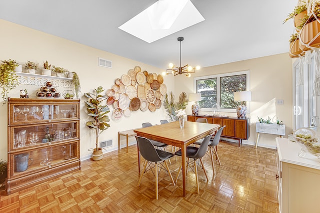
[[[258,48],[258,47],[257,47]],[[286,136],[292,131],[292,59],[288,53],[260,57],[250,60],[221,64],[202,68],[192,74],[190,78],[185,76],[175,77],[174,91],[176,94],[184,91],[187,94],[194,93],[193,77],[230,73],[236,71],[250,71],[250,137],[243,143],[254,144],[256,139],[255,122],[258,117],[276,117],[286,126]],[[282,99],[283,105],[276,104],[276,100]],[[187,114],[192,114],[190,102],[187,106]],[[205,114],[205,112],[199,112]],[[236,113],[223,113],[236,117]],[[275,148],[275,135],[260,134],[259,146]]]

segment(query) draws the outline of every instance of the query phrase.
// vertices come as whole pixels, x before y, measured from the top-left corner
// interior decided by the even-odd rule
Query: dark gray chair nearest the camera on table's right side
[[[198,182],[198,172],[197,172],[197,164],[196,164],[196,161],[197,159],[200,160],[200,163],[201,163],[201,166],[202,166],[202,169],[203,169],[203,172],[204,172],[204,175],[206,177],[206,180],[208,180],[208,177],[206,175],[206,172],[205,172],[205,169],[204,169],[204,166],[203,166],[203,162],[202,162],[202,157],[205,155],[206,153],[206,150],[208,148],[208,144],[210,142],[210,138],[211,138],[211,135],[208,135],[206,136],[202,143],[200,144],[199,147],[186,147],[186,157],[189,159],[189,158],[192,158],[193,159],[193,163],[194,163],[194,173],[195,173],[195,182],[196,182],[196,190],[197,190],[197,193],[200,194],[199,192],[199,182]],[[174,153],[175,155],[177,156],[181,156],[181,150],[178,150],[177,152]],[[187,163],[187,168],[189,166],[189,163]],[[181,166],[179,168],[179,172],[176,176],[176,180],[175,182],[178,180],[178,177],[179,177],[179,174],[180,174],[180,171],[181,171],[181,168],[182,168],[182,163],[181,163]]]

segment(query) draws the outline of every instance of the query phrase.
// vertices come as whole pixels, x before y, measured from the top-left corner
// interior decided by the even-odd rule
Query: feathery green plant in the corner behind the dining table
[[[188,99],[185,92],[181,92],[177,102],[174,101],[174,95],[172,92],[170,92],[170,97],[165,94],[165,99],[163,101],[163,107],[166,114],[169,116],[170,121],[176,121],[175,111],[179,109],[185,109],[187,104]]]

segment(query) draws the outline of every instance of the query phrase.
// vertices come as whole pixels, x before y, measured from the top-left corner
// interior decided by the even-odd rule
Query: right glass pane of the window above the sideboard
[[[220,107],[235,108],[241,102],[233,101],[233,92],[246,91],[246,75],[233,75],[220,78]],[[246,105],[246,102],[242,104]]]

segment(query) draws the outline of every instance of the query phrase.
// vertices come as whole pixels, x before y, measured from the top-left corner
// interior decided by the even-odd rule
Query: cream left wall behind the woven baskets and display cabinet
[[[93,88],[102,86],[105,90],[111,88],[116,78],[126,74],[129,69],[138,65],[142,70],[151,73],[161,74],[162,69],[140,63],[138,61],[123,58],[99,49],[91,48],[76,42],[72,42],[60,37],[52,36],[31,28],[27,28],[18,24],[14,24],[0,19],[0,26],[3,29],[0,33],[0,60],[14,59],[17,62],[25,63],[27,60],[36,61],[40,65],[42,61],[47,60],[50,64],[60,66],[69,71],[75,71],[80,78],[81,92],[93,91]],[[104,68],[97,66],[98,57],[112,61],[112,68]],[[164,84],[167,91],[173,90],[173,76],[164,76]],[[19,85],[16,89],[9,93],[9,97],[19,97],[20,89],[27,88],[29,97],[35,98],[36,91],[39,86]],[[63,91],[63,88],[58,88]],[[80,156],[81,158],[90,155],[88,148],[94,147],[94,133],[85,126],[88,119],[85,111],[85,98],[81,96],[80,101]],[[6,159],[7,155],[7,107],[6,104],[0,103],[0,159]],[[110,107],[112,112],[113,107]],[[111,116],[109,113],[109,117]],[[123,117],[120,120],[109,122],[110,128],[104,131],[99,137],[99,141],[112,139],[113,147],[117,149],[117,132],[132,128],[138,128],[143,122],[151,122],[159,124],[161,119],[165,119],[163,107],[155,112],[140,110],[132,112],[131,116]],[[121,146],[125,144],[122,137]],[[134,138],[131,138],[131,141]]]

